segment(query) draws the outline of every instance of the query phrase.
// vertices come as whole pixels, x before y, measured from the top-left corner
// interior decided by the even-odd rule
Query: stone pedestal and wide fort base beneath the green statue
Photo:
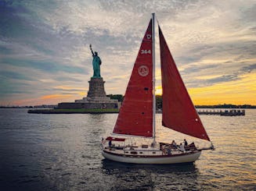
[[[87,97],[70,103],[59,103],[59,109],[118,109],[121,103],[106,97],[103,78],[91,78]]]

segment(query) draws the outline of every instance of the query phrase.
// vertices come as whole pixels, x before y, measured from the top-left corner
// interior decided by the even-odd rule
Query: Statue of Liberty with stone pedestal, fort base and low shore
[[[92,51],[92,44],[90,44],[90,50]],[[105,81],[100,75],[101,59],[97,51],[92,51],[92,68],[93,75],[91,80],[88,81],[89,88],[87,97],[83,97],[81,100],[75,100],[74,102],[62,102],[59,103],[55,109],[50,110],[29,110],[29,113],[112,113],[118,112],[121,103],[117,100],[112,100],[110,97],[106,97],[106,91],[104,88]]]

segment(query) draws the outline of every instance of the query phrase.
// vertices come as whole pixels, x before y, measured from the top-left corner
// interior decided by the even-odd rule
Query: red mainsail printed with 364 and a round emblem
[[[143,37],[113,133],[152,136],[152,20]]]

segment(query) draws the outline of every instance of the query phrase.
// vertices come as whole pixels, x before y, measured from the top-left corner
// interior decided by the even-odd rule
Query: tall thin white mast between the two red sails
[[[156,90],[155,90],[155,13],[152,13],[152,59],[153,59],[153,145],[156,143]]]

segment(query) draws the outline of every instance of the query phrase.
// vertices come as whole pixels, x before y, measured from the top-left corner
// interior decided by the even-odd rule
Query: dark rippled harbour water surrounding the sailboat
[[[121,164],[103,159],[99,141],[116,114],[38,115],[0,109],[1,190],[255,190],[256,110],[200,115],[216,150],[193,164]],[[157,137],[182,136],[160,126]],[[197,144],[204,141],[193,140]]]

